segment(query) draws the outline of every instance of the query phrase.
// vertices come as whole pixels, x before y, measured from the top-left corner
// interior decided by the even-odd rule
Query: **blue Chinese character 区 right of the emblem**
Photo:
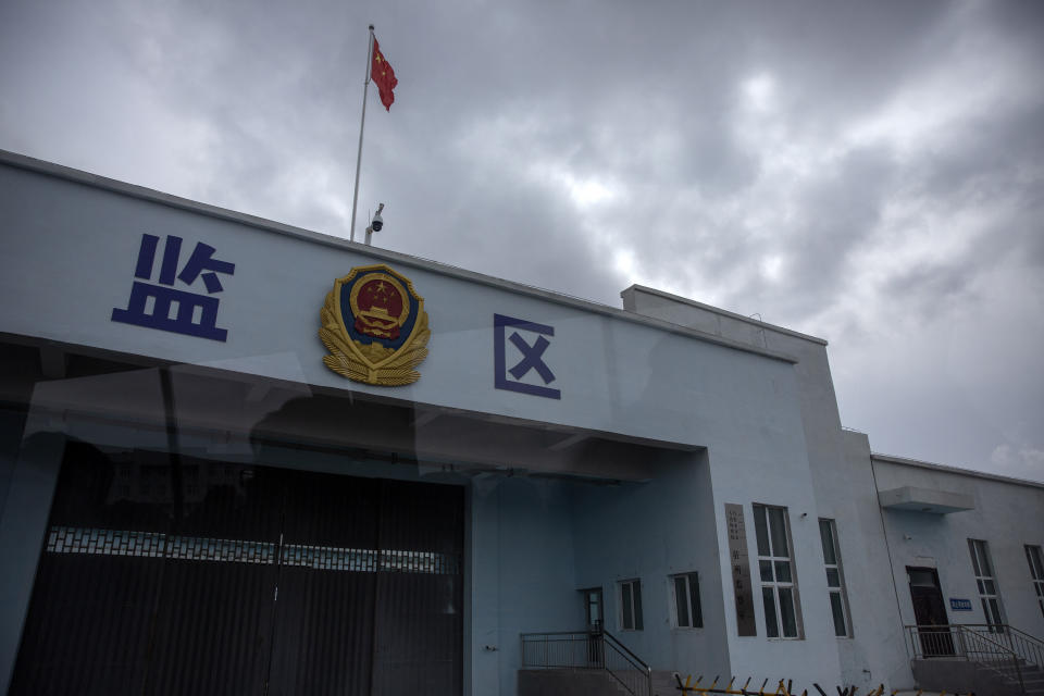
[[[544,352],[551,345],[548,336],[555,336],[555,327],[494,314],[493,328],[494,387],[548,399],[562,398],[560,389],[547,386],[555,382],[555,373],[544,361]],[[520,331],[535,338],[527,340]],[[513,358],[518,359],[511,368],[508,366],[509,345]],[[537,381],[543,384],[534,384]]]

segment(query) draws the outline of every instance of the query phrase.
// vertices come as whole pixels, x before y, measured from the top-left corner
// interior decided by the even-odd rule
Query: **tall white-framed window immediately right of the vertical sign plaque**
[[[799,638],[800,606],[794,581],[786,508],[755,505],[754,529],[758,536],[766,634],[770,638]]]

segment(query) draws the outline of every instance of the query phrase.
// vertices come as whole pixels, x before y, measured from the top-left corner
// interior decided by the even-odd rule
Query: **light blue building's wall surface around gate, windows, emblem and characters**
[[[583,630],[580,591],[592,587],[602,588],[607,629],[658,671],[909,686],[904,569],[934,563],[947,593],[974,599],[968,538],[989,540],[1011,622],[1044,634],[1020,558],[1044,543],[1044,488],[872,456],[866,436],[842,430],[820,338],[639,286],[612,309],[10,153],[0,216],[0,339],[26,374],[40,372],[9,366],[0,384],[13,405],[0,412],[2,683],[65,438],[460,486],[464,693],[475,696],[514,696],[520,635]],[[111,321],[144,234],[208,244],[236,264],[221,294],[227,340]],[[374,263],[407,275],[430,315],[430,355],[411,385],[348,382],[323,364],[326,293]],[[495,315],[554,327],[543,359],[560,398],[496,388]],[[67,356],[121,370],[66,374]],[[883,508],[879,494],[903,486],[974,506]],[[738,630],[726,505],[744,512],[751,636]],[[784,510],[796,638],[767,636],[754,506]],[[837,530],[844,636],[820,519]],[[700,627],[676,626],[671,579],[682,573],[699,579]],[[641,631],[620,619],[620,583],[633,580]]]

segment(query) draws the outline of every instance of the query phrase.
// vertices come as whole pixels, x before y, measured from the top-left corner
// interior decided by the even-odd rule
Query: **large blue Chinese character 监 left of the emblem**
[[[130,299],[126,309],[112,309],[112,321],[223,341],[228,332],[217,327],[217,298],[211,296],[224,289],[217,274],[235,274],[236,264],[214,259],[216,249],[200,241],[178,272],[183,241],[181,237],[167,235],[159,277],[153,283],[160,238],[141,235],[134,271],[137,279],[130,286]],[[177,281],[190,287],[198,278],[202,278],[206,294],[175,287]]]

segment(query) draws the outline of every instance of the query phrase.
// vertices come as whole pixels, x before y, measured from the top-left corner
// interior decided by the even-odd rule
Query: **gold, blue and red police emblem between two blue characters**
[[[334,283],[320,312],[319,337],[327,368],[349,380],[381,386],[411,384],[427,357],[424,298],[401,273],[383,263],[352,269]]]

